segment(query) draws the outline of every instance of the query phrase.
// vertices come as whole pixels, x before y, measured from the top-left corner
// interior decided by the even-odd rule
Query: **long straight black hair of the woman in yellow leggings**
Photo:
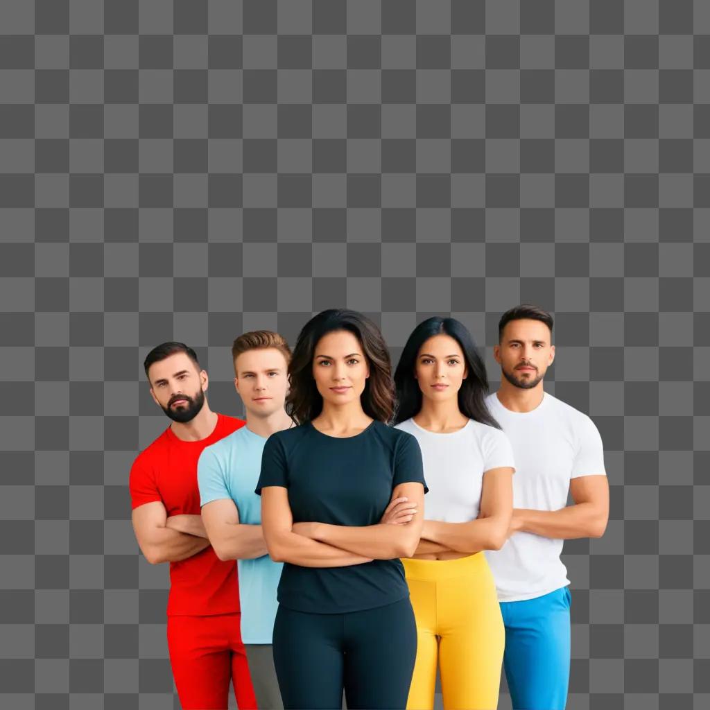
[[[400,356],[395,371],[395,389],[397,392],[397,408],[394,422],[399,424],[416,415],[422,408],[422,391],[415,379],[417,355],[422,345],[435,335],[451,336],[461,346],[464,354],[468,375],[459,389],[459,410],[461,413],[481,424],[500,429],[486,406],[488,394],[488,376],[483,359],[476,349],[474,339],[469,329],[455,318],[434,316],[422,321],[413,330]]]

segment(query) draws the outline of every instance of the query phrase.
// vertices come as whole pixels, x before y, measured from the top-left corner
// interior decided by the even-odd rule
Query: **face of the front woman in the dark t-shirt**
[[[349,330],[336,330],[317,342],[313,378],[323,403],[341,406],[359,402],[369,376],[363,347]]]

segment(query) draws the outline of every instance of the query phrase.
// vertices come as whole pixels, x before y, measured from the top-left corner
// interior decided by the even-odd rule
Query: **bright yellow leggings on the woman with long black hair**
[[[417,621],[407,709],[434,707],[437,660],[445,710],[495,709],[506,631],[484,553],[402,562]]]

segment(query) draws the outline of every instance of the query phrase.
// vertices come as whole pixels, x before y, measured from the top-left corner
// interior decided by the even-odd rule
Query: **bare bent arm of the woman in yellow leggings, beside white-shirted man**
[[[481,550],[500,550],[508,537],[512,512],[513,469],[489,469],[484,474],[479,517],[468,523],[425,520],[422,537],[471,555]]]

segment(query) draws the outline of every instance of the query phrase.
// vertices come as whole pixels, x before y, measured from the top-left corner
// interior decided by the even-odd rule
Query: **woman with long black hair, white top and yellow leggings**
[[[403,560],[418,635],[408,708],[434,706],[437,662],[444,709],[496,708],[505,630],[483,550],[506,541],[513,451],[484,402],[484,362],[454,318],[417,325],[395,387],[396,428],[419,442],[432,489],[420,544]]]

